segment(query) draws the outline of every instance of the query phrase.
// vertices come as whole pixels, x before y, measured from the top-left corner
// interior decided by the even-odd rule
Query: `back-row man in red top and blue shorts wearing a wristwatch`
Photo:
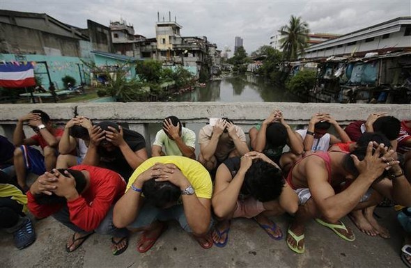
[[[30,138],[26,138],[24,134],[23,125],[26,122],[36,133]],[[29,189],[26,184],[27,171],[41,175],[56,167],[57,148],[62,134],[63,129],[54,127],[49,115],[44,111],[33,110],[19,118],[13,134],[13,143],[16,146],[14,166],[17,182],[24,191]],[[40,146],[44,156],[31,145]]]

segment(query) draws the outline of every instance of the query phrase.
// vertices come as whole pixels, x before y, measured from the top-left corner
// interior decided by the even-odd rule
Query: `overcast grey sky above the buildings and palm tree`
[[[309,24],[311,33],[346,34],[396,17],[411,16],[411,1],[137,1],[137,0],[0,0],[0,9],[46,13],[59,21],[86,28],[87,19],[109,26],[125,20],[137,34],[155,37],[157,12],[183,26],[181,36],[206,36],[209,42],[234,48],[240,36],[248,54],[270,44],[270,36],[288,24],[291,15]]]

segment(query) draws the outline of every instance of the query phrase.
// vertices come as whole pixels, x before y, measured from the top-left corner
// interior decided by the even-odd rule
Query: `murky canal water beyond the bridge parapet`
[[[237,74],[212,80],[205,87],[174,95],[173,102],[302,102],[285,88],[267,83],[253,74]]]

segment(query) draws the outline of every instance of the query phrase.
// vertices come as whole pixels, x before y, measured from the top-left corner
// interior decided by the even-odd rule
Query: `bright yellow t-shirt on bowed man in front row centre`
[[[180,171],[185,175],[189,183],[192,184],[195,194],[199,198],[210,199],[212,196],[212,182],[210,173],[203,167],[198,161],[188,157],[181,157],[176,155],[169,155],[164,157],[151,157],[144,161],[135,171],[132,173],[128,180],[127,188],[131,187],[131,184],[139,177],[141,173],[148,170],[155,163],[162,164],[175,164]]]

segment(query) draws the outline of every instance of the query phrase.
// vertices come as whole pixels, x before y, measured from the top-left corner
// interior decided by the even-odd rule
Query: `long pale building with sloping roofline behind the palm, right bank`
[[[361,57],[370,52],[381,54],[405,50],[411,50],[411,17],[397,17],[311,45],[303,58]]]

